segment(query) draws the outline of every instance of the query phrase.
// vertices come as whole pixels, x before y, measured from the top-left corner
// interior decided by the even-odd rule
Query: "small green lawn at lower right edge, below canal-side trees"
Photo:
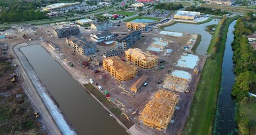
[[[240,113],[245,113],[250,120],[250,134],[256,133],[256,98],[245,105],[240,105]]]

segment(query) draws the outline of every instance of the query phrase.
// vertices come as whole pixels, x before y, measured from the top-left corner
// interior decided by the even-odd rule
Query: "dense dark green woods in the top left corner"
[[[47,19],[47,12],[41,12],[35,3],[18,2],[2,8],[0,22],[19,22]]]

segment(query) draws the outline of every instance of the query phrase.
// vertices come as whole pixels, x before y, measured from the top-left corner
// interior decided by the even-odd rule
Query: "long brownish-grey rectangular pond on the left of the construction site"
[[[128,134],[43,47],[20,50],[78,134]]]

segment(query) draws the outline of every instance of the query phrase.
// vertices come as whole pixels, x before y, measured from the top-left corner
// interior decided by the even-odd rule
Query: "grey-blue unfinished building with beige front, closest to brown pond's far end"
[[[87,42],[86,39],[79,37],[71,36],[70,38],[65,38],[66,44],[73,48],[76,53],[79,55],[91,55],[95,53],[95,46],[96,44],[92,42]]]

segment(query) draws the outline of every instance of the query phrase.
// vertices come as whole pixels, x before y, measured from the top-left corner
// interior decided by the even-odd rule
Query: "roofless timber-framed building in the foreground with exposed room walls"
[[[179,95],[164,89],[158,89],[140,115],[140,123],[160,131],[165,131],[170,124]]]

